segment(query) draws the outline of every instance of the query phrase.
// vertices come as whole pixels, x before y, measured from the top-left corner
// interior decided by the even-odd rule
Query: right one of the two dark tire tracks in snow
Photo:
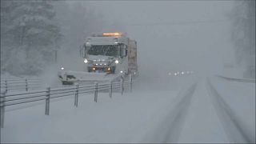
[[[225,102],[218,91],[210,83],[210,79],[207,79],[207,90],[210,98],[217,111],[218,118],[222,122],[222,126],[228,135],[230,142],[235,143],[255,143],[255,136],[250,134],[249,130],[245,129],[243,122],[238,118],[230,106]]]

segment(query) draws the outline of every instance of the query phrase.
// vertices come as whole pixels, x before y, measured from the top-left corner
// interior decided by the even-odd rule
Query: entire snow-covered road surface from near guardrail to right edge
[[[99,94],[97,103],[80,96],[78,108],[74,98],[51,102],[50,116],[43,104],[9,111],[1,142],[255,142],[255,83],[210,78],[227,116],[206,78],[180,79],[135,83],[133,93]]]

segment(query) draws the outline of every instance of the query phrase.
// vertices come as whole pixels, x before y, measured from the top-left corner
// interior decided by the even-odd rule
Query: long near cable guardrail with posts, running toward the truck
[[[70,97],[74,96],[74,106],[78,107],[78,96],[79,94],[94,94],[94,102],[98,102],[98,91],[108,90],[110,98],[114,89],[120,89],[121,94],[124,92],[125,86],[130,86],[130,92],[132,92],[132,77],[128,81],[121,80],[120,82],[107,82],[98,83],[94,85],[83,85],[62,88],[46,88],[46,90],[30,90],[23,93],[6,93],[3,92],[0,97],[0,108],[1,108],[1,127],[4,126],[4,116],[6,106],[21,105],[28,102],[46,101],[45,114],[50,114],[50,99]]]

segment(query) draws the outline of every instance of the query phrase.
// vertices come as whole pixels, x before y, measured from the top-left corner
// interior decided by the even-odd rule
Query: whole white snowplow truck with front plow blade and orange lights
[[[62,84],[114,81],[127,74],[138,74],[137,42],[126,34],[91,34],[80,48],[80,55],[84,71],[59,71],[58,78]]]

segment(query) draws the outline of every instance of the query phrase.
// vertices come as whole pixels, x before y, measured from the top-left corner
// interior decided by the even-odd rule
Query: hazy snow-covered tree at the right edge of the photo
[[[234,50],[238,66],[255,77],[255,0],[235,1],[232,14]]]

